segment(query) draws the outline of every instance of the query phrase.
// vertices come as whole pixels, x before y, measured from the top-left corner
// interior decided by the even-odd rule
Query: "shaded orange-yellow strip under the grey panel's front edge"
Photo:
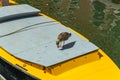
[[[66,71],[74,69],[76,67],[79,67],[81,65],[91,63],[91,62],[97,61],[99,59],[100,58],[99,58],[99,55],[98,55],[97,51],[91,52],[87,55],[80,56],[80,57],[71,59],[69,61],[54,65],[51,68],[51,72],[52,72],[53,75],[59,75],[59,74],[62,74]]]

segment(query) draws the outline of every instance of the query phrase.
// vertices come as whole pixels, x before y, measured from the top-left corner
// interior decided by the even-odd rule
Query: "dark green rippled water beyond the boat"
[[[111,0],[16,0],[78,31],[120,67],[120,4]]]

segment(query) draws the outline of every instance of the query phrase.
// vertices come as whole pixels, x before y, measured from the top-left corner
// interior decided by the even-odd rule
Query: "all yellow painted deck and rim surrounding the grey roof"
[[[40,15],[50,18],[41,13]],[[68,29],[89,41],[71,28]],[[46,70],[42,70],[42,66],[40,65],[15,58],[2,47],[0,47],[0,57],[17,68],[19,68],[19,66],[22,67],[20,69],[25,73],[42,80],[120,80],[119,68],[101,49],[48,67]]]

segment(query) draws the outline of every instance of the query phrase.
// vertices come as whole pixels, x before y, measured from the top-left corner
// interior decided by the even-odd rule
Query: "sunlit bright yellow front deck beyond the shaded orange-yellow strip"
[[[120,70],[104,54],[97,61],[93,61],[58,75],[56,80],[120,80]],[[71,64],[72,65],[72,64]]]

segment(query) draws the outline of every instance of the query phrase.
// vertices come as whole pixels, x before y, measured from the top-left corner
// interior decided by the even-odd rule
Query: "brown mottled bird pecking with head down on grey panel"
[[[71,36],[71,33],[68,33],[68,32],[62,32],[58,35],[58,38],[57,38],[57,41],[56,41],[56,45],[57,45],[57,48],[59,47],[62,47],[64,46],[65,44],[65,41],[68,40],[68,38]],[[61,46],[60,43],[63,42],[63,45]]]

